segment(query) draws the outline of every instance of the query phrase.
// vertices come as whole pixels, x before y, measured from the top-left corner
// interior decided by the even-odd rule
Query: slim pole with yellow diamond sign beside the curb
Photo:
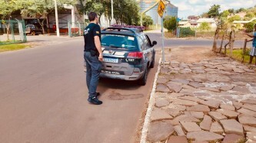
[[[165,41],[164,41],[164,12],[165,12],[165,4],[164,2],[162,2],[161,0],[159,1],[159,5],[158,5],[158,15],[161,17],[161,43],[162,43],[162,47],[161,47],[161,54],[162,54],[162,62],[165,68]]]

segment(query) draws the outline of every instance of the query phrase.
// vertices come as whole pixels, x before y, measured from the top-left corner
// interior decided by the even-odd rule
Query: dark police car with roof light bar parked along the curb
[[[156,41],[136,28],[105,28],[101,31],[101,77],[147,83],[148,68],[155,65]]]

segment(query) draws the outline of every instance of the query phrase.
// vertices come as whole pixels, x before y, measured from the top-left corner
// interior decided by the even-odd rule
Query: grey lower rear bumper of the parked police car
[[[115,80],[139,80],[139,79],[141,79],[143,74],[144,74],[144,72],[133,73],[131,76],[126,76],[126,75],[115,75],[115,74],[101,73],[100,77],[115,79]]]

